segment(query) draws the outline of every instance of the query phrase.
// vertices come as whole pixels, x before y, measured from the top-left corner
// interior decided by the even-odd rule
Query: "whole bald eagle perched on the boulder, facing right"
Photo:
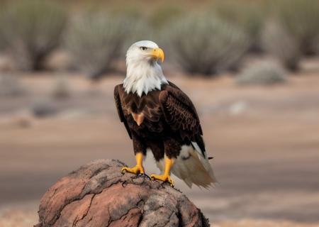
[[[158,60],[164,52],[152,41],[134,43],[126,54],[123,84],[114,89],[118,116],[133,140],[135,167],[124,172],[145,174],[142,165],[147,149],[152,150],[162,175],[151,179],[169,182],[174,175],[191,187],[209,187],[216,182],[203,142],[203,131],[191,100],[169,82]]]

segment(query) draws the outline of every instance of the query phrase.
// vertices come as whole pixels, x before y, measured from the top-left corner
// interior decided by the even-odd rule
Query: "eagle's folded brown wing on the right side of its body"
[[[181,138],[196,142],[205,152],[203,131],[197,111],[191,99],[175,84],[169,82],[159,94],[165,121],[173,131],[180,133]]]

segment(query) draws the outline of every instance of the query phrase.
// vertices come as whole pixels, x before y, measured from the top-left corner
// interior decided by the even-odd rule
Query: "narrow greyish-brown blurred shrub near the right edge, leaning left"
[[[298,40],[279,23],[269,21],[262,33],[264,49],[274,55],[289,70],[298,70],[301,51]]]

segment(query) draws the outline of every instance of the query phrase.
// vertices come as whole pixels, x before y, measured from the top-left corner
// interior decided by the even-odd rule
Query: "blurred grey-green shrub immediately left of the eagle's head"
[[[101,77],[123,52],[132,25],[132,21],[104,12],[84,13],[74,18],[66,38],[74,66],[91,79]]]

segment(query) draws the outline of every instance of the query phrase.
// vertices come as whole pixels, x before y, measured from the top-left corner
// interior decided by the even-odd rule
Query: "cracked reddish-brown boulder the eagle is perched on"
[[[55,183],[40,201],[47,226],[209,226],[201,211],[167,183],[121,174],[118,160],[96,160]]]

